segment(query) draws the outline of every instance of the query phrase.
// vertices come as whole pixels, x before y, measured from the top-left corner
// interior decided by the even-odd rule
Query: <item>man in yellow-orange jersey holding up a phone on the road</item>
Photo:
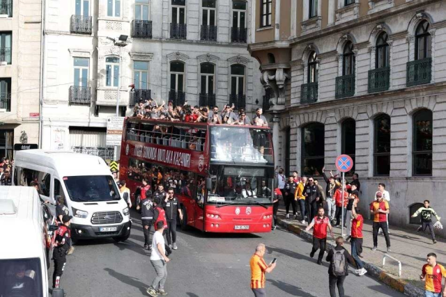
[[[265,245],[259,243],[256,252],[249,261],[249,266],[251,266],[251,289],[255,297],[266,297],[265,273],[270,273],[276,266],[275,263],[267,265],[263,260],[263,255],[265,255]]]

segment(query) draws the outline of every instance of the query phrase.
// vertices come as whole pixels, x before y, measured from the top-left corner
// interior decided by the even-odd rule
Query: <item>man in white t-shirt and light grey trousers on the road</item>
[[[156,277],[152,282],[151,287],[148,287],[147,294],[153,297],[167,295],[164,291],[164,283],[167,279],[167,262],[170,259],[166,256],[166,248],[164,237],[162,232],[164,231],[164,222],[160,220],[156,224],[156,231],[153,234],[152,239],[152,253],[151,253],[151,263],[153,268],[155,268]]]

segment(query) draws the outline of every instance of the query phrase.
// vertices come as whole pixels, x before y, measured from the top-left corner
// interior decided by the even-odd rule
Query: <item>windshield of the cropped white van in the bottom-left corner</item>
[[[40,259],[0,260],[0,296],[42,297]]]

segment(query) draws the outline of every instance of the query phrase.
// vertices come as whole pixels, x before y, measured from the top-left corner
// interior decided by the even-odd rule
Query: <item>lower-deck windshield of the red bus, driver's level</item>
[[[209,204],[272,203],[272,168],[210,166],[213,188]]]

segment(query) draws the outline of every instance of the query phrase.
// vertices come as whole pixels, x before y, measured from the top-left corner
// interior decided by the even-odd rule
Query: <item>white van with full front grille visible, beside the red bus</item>
[[[125,241],[131,220],[112,173],[98,156],[72,152],[23,150],[15,153],[13,185],[39,185],[43,200],[61,195],[70,210],[71,236],[77,239],[112,237]]]

